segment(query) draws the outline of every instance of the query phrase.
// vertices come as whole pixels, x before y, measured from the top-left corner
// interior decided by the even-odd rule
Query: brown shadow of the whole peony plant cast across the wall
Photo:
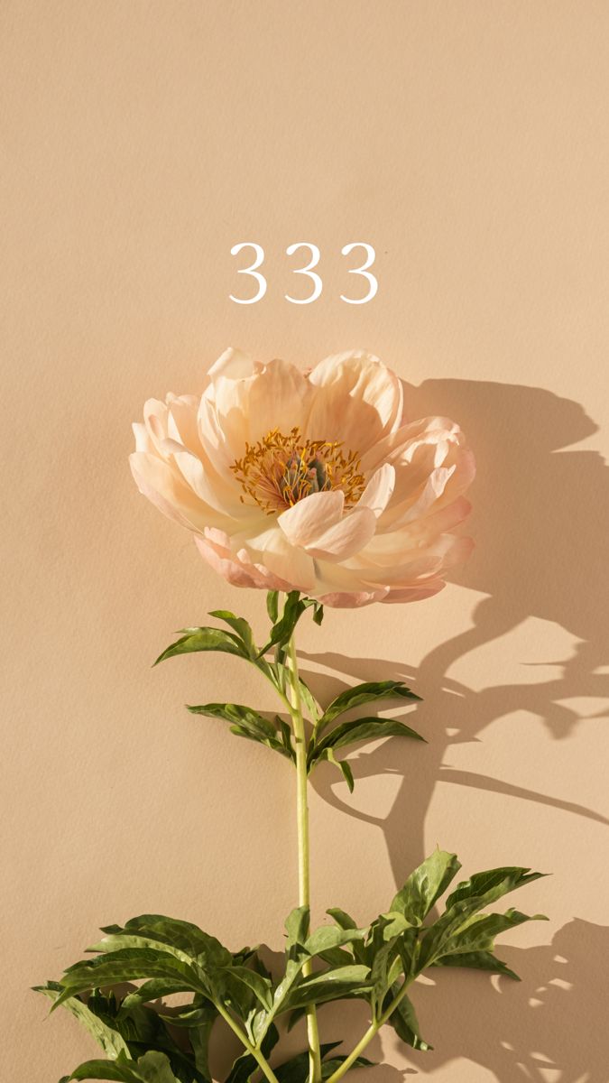
[[[403,775],[387,819],[377,820],[340,801],[327,774],[320,772],[313,780],[324,799],[383,830],[397,883],[425,852],[426,812],[437,782],[510,795],[609,823],[599,812],[547,792],[454,770],[443,762],[451,744],[477,740],[491,722],[513,712],[537,716],[549,738],[561,740],[585,721],[561,701],[609,697],[609,673],[601,671],[609,663],[609,614],[598,589],[606,576],[608,470],[596,452],[563,451],[597,427],[579,404],[537,388],[431,380],[418,389],[407,388],[406,402],[413,416],[425,415],[431,404],[439,413],[457,416],[484,465],[474,499],[475,508],[482,509],[471,524],[477,548],[458,582],[489,597],[477,606],[474,627],[432,650],[417,667],[416,679],[407,668],[398,675],[425,695],[416,721],[422,732],[433,734],[430,743],[419,754],[410,745],[386,742],[352,760],[355,779],[389,771]],[[586,523],[591,523],[587,530]],[[405,623],[410,616],[407,611]],[[560,670],[555,679],[474,691],[448,676],[465,654],[529,616],[556,622],[580,640],[573,657],[548,658]],[[394,662],[353,662],[339,654],[304,652],[301,656],[304,663],[322,663],[351,680],[396,677]],[[320,681],[319,674],[306,676]],[[336,694],[340,688],[332,691]],[[444,740],[439,719],[450,728]],[[480,975],[442,973],[436,989],[422,984],[420,1015],[425,1018],[429,999],[429,1010],[444,1020],[443,1036],[441,1048],[425,1054],[425,1059],[411,1054],[413,1062],[425,1074],[458,1055],[493,1071],[501,1083],[541,1080],[544,1069],[553,1070],[556,1083],[605,1083],[607,1055],[599,1038],[605,1032],[605,1007],[595,996],[600,976],[594,969],[608,949],[609,928],[580,919],[560,929],[550,945],[505,949],[506,961],[523,978],[520,986],[509,986],[514,1005],[509,1014],[489,1008],[489,999],[502,995],[502,984],[492,986]],[[457,979],[467,982],[465,994],[463,987],[457,991]],[[541,982],[546,983],[543,990]],[[465,1027],[464,1013],[483,1018],[484,1027]]]

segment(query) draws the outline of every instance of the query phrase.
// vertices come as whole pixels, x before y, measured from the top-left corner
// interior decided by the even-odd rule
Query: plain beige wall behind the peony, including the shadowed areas
[[[437,1052],[388,1032],[370,1079],[606,1083],[607,3],[2,0],[0,37],[4,1078],[92,1054],[28,986],[99,925],[156,910],[281,948],[290,771],[182,707],[265,690],[231,660],[150,668],[208,609],[259,623],[263,596],[216,578],[127,468],[143,400],[196,391],[232,343],[302,366],[371,349],[479,458],[454,584],[302,634],[322,689],[416,681],[429,738],[363,749],[353,797],[320,771],[315,910],[373,916],[439,841],[466,872],[553,872],[517,900],[552,921],[507,938],[520,986],[423,984]],[[270,286],[242,308],[250,239]],[[360,239],[379,291],[358,308],[339,251]],[[298,240],[324,276],[301,308]]]

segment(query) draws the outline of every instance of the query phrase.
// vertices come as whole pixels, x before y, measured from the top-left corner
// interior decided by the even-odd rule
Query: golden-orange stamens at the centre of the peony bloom
[[[303,440],[298,428],[288,435],[271,429],[257,444],[246,443],[231,470],[267,514],[332,488],[342,490],[346,504],[355,504],[366,484],[355,452],[345,453],[341,441]]]

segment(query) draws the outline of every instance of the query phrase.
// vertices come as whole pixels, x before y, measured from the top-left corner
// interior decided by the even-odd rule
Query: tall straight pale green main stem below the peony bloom
[[[296,815],[298,824],[298,904],[311,905],[311,885],[309,874],[309,801],[307,794],[307,738],[302,718],[302,696],[298,676],[298,660],[296,657],[295,637],[288,643],[288,662],[290,673],[290,716],[296,745]],[[311,974],[311,961],[302,967],[303,975]],[[320,1034],[315,1005],[307,1008],[307,1033],[309,1036],[309,1083],[321,1083],[322,1058],[320,1051]]]

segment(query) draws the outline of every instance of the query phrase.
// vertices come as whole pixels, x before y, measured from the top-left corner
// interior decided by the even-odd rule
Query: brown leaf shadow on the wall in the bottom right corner
[[[450,1065],[458,1051],[501,1083],[606,1083],[601,990],[608,950],[608,927],[574,918],[552,943],[502,950],[522,979],[518,983],[438,970],[433,986],[419,983],[416,1003],[422,1028],[433,1041],[433,1020],[440,1020],[442,1040],[432,1053],[407,1059],[431,1073]]]

